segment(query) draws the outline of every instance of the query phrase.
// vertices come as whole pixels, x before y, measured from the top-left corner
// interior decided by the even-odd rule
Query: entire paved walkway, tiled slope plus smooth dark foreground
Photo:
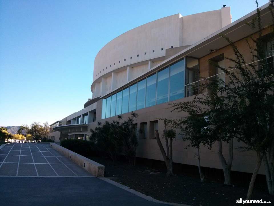
[[[93,177],[49,144],[0,150],[1,206],[164,206]]]

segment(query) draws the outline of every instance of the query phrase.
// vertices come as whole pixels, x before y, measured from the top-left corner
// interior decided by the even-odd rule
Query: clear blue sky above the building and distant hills
[[[0,0],[0,126],[51,124],[81,110],[92,97],[94,58],[110,40],[162,17],[223,4],[232,21],[255,9],[252,0]]]

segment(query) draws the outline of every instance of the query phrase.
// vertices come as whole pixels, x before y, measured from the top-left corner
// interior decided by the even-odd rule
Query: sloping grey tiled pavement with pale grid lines
[[[0,177],[93,177],[49,146],[12,143],[0,150]]]

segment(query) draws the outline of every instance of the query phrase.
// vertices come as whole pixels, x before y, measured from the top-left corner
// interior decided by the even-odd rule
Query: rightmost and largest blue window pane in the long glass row
[[[170,65],[170,101],[184,98],[185,60]]]

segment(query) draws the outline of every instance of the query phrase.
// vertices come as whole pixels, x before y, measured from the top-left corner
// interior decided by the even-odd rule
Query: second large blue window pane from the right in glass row
[[[168,102],[169,67],[157,73],[157,104]]]

